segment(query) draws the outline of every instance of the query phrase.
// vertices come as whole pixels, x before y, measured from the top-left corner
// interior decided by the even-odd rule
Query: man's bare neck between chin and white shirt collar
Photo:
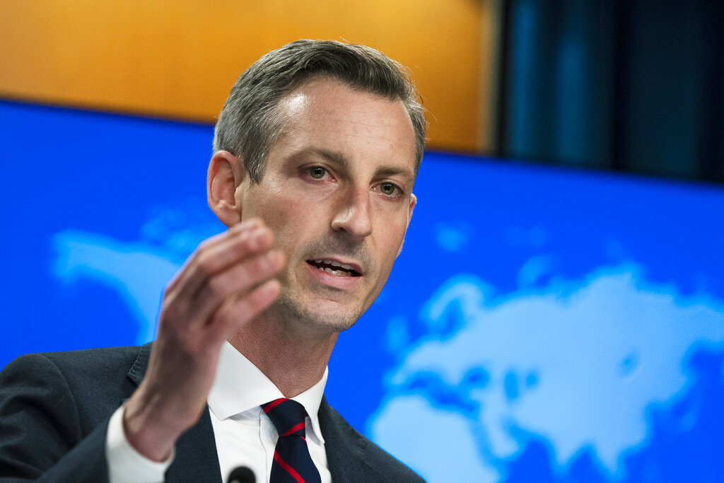
[[[229,342],[276,385],[286,398],[308,390],[324,375],[337,332],[320,334],[298,324],[258,317]]]

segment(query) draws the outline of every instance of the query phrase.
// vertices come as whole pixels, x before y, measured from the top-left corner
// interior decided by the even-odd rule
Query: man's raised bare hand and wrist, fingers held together
[[[261,220],[237,224],[204,241],[164,293],[159,331],[138,390],[125,407],[127,440],[155,461],[206,407],[224,340],[279,295],[274,274],[284,256],[271,250]]]

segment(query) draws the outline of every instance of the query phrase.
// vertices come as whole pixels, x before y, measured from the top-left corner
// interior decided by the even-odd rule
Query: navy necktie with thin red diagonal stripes
[[[279,398],[261,406],[279,433],[271,483],[321,483],[319,471],[309,455],[304,430],[307,412],[295,400]]]

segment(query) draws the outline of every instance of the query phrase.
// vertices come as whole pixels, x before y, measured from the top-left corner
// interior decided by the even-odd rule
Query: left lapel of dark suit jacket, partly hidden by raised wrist
[[[140,385],[143,380],[150,355],[151,344],[143,345],[138,351],[138,356],[128,371],[128,377],[135,385]],[[174,462],[166,471],[167,482],[222,481],[208,407],[204,409],[201,419],[177,440],[175,450]]]

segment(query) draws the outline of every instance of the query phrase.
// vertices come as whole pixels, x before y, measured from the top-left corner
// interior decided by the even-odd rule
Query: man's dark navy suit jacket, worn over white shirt
[[[30,354],[8,364],[0,372],[0,482],[107,481],[109,418],[138,387],[150,353],[148,344]],[[334,483],[424,481],[324,398],[319,424]],[[177,441],[166,481],[222,481],[208,408]]]

